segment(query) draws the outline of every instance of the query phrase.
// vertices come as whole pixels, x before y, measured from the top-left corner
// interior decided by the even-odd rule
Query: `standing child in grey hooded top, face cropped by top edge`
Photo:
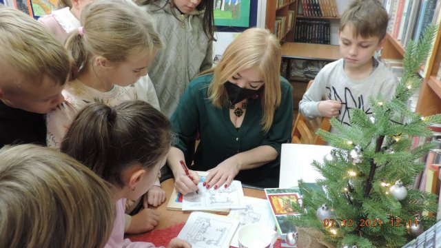
[[[189,81],[212,68],[214,1],[137,0],[165,42],[149,69],[161,111],[172,116]]]

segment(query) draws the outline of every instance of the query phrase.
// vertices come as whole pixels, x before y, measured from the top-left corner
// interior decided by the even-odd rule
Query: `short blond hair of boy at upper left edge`
[[[38,21],[12,8],[0,8],[0,74],[2,64],[17,74],[17,87],[23,82],[39,84],[49,76],[63,85],[70,72],[70,58],[63,45]]]

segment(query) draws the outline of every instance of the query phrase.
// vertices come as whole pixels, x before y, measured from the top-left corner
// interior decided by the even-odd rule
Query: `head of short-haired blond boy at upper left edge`
[[[0,8],[0,44],[3,103],[46,113],[63,101],[70,58],[41,23],[19,10]]]

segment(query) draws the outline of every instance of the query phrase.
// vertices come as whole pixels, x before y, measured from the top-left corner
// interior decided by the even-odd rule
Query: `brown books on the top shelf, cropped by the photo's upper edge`
[[[302,0],[305,17],[338,17],[336,0]]]

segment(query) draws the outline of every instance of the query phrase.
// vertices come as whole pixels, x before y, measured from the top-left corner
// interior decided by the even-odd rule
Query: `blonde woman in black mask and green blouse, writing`
[[[268,30],[250,28],[225,50],[220,63],[194,79],[171,118],[177,134],[167,163],[175,186],[187,194],[198,188],[180,161],[208,170],[204,186],[228,187],[233,179],[278,187],[280,147],[292,125],[291,85],[280,77],[280,43]],[[191,144],[197,134],[194,160]]]

